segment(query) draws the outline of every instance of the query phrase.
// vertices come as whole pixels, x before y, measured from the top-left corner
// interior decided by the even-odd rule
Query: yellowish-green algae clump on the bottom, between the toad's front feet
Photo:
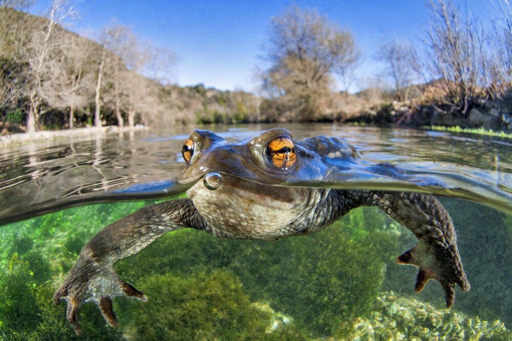
[[[140,285],[154,300],[143,309],[121,309],[130,339],[304,339],[291,326],[272,330],[272,311],[251,303],[237,276],[226,270],[151,275]]]

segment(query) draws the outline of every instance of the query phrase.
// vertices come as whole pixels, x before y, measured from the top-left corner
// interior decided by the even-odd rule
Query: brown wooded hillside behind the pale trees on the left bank
[[[0,8],[0,133],[2,134],[25,130],[26,116],[29,111],[28,86],[33,73],[28,60],[33,58],[30,53],[35,53],[33,51],[37,50],[37,48],[28,49],[27,44],[30,44],[37,35],[44,34],[48,25],[47,18],[10,8]],[[79,45],[79,51],[88,55],[80,67],[80,80],[82,82],[87,80],[87,84],[84,89],[80,89],[80,96],[85,98],[82,98],[81,105],[74,108],[74,126],[91,125],[95,108],[94,91],[100,64],[99,58],[103,47],[96,41],[79,36],[60,26],[55,27],[54,34],[58,35],[64,43],[52,50],[48,58],[63,59],[61,55],[66,55],[67,41],[73,41],[73,44]],[[101,114],[105,124],[117,124],[116,101],[119,102],[119,98],[126,99],[137,91],[141,93],[139,97],[134,97],[139,99],[135,103],[138,105],[131,105],[131,108],[128,104],[125,108],[118,105],[125,120],[124,124],[129,123],[126,121],[127,112],[135,107],[137,112],[134,124],[238,123],[255,122],[260,118],[261,98],[253,94],[243,91],[220,91],[205,88],[203,84],[190,87],[165,85],[157,80],[135,75],[122,62],[121,56],[112,51],[106,52],[106,59],[120,62],[120,64],[117,65],[116,71],[113,65],[105,66],[101,89]],[[55,65],[65,64],[58,60]],[[59,72],[65,73],[63,78],[73,79],[76,68],[66,67]],[[124,83],[130,83],[131,86],[119,95],[114,91],[116,85],[114,72],[122,73]],[[45,81],[45,79],[42,80],[42,82]],[[14,87],[16,89],[13,89]],[[17,97],[12,98],[13,93],[18,94]],[[8,98],[9,96],[11,98]],[[144,105],[141,105],[141,101]],[[38,122],[40,129],[62,129],[69,126],[68,117],[71,106],[55,105],[53,102],[58,101],[45,100],[42,103],[41,108],[45,113],[41,115]]]

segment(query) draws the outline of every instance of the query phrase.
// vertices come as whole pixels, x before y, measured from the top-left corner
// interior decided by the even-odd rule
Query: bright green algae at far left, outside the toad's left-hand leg
[[[55,307],[51,297],[58,281],[87,242],[122,210],[142,202],[92,205],[55,212],[2,226],[0,229],[0,329],[4,339],[76,339],[65,318],[66,308]],[[85,306],[82,322],[90,339],[119,339],[120,331],[107,328],[97,309]],[[86,331],[87,330],[87,331]]]

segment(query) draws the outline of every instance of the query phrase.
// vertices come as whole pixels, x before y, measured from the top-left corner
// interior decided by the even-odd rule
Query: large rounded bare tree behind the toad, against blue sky
[[[332,74],[348,70],[358,52],[348,30],[316,10],[292,6],[271,20],[267,58],[264,88],[280,96],[285,110],[312,120],[329,107]]]

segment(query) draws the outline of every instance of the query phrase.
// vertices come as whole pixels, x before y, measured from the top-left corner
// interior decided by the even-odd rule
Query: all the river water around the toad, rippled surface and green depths
[[[234,141],[269,127],[206,129]],[[442,309],[437,283],[415,294],[415,268],[394,263],[414,237],[378,209],[360,208],[317,235],[272,243],[169,233],[116,264],[120,277],[150,301],[114,300],[117,329],[106,326],[94,305],[84,305],[82,338],[512,337],[512,141],[331,124],[283,127],[296,139],[346,138],[367,162],[356,165],[357,172],[334,164],[328,176],[287,185],[410,188],[471,199],[441,199],[455,222],[470,292],[457,290],[451,310]],[[109,133],[2,149],[0,222],[10,224],[0,226],[0,338],[74,337],[65,305],[51,303],[53,291],[97,231],[148,202],[82,205],[182,193],[170,179],[184,167],[180,151],[190,131]],[[361,176],[380,162],[430,185]],[[71,206],[79,207],[63,210]]]

